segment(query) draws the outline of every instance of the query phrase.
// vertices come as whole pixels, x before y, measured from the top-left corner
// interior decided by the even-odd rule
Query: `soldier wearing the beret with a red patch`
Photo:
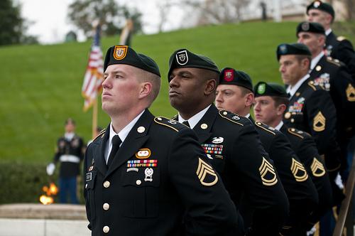
[[[250,115],[253,104],[253,85],[248,74],[234,68],[224,68],[219,75],[216,92],[216,107],[248,117],[255,124],[261,143],[268,152],[288,195],[290,215],[280,231],[281,235],[306,235],[311,214],[318,207],[318,193],[305,166],[291,149],[288,138],[273,127],[254,122]],[[309,172],[311,173],[311,172]],[[248,199],[243,199],[241,215],[252,209]]]

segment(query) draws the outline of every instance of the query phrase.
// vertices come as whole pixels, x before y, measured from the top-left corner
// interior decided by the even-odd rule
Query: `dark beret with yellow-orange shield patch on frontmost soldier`
[[[104,71],[109,65],[114,64],[132,65],[160,76],[158,65],[152,58],[141,53],[136,53],[135,50],[127,45],[114,45],[107,50]]]

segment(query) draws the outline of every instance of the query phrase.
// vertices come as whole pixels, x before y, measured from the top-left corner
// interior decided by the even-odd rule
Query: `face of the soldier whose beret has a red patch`
[[[243,115],[246,109],[246,96],[237,85],[218,85],[214,103],[219,110]]]

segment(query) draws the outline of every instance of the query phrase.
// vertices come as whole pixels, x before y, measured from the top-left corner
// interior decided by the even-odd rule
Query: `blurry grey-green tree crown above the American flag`
[[[126,18],[134,21],[135,31],[141,31],[141,14],[134,10],[119,6],[114,0],[76,0],[69,6],[70,21],[84,31],[85,36],[92,36],[92,23],[99,21],[102,32],[114,35],[121,32]]]

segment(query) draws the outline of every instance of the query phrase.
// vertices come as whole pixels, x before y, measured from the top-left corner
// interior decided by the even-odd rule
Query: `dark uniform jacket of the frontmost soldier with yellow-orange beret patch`
[[[89,145],[92,235],[236,235],[237,212],[191,129],[146,110],[107,168],[109,127]]]

